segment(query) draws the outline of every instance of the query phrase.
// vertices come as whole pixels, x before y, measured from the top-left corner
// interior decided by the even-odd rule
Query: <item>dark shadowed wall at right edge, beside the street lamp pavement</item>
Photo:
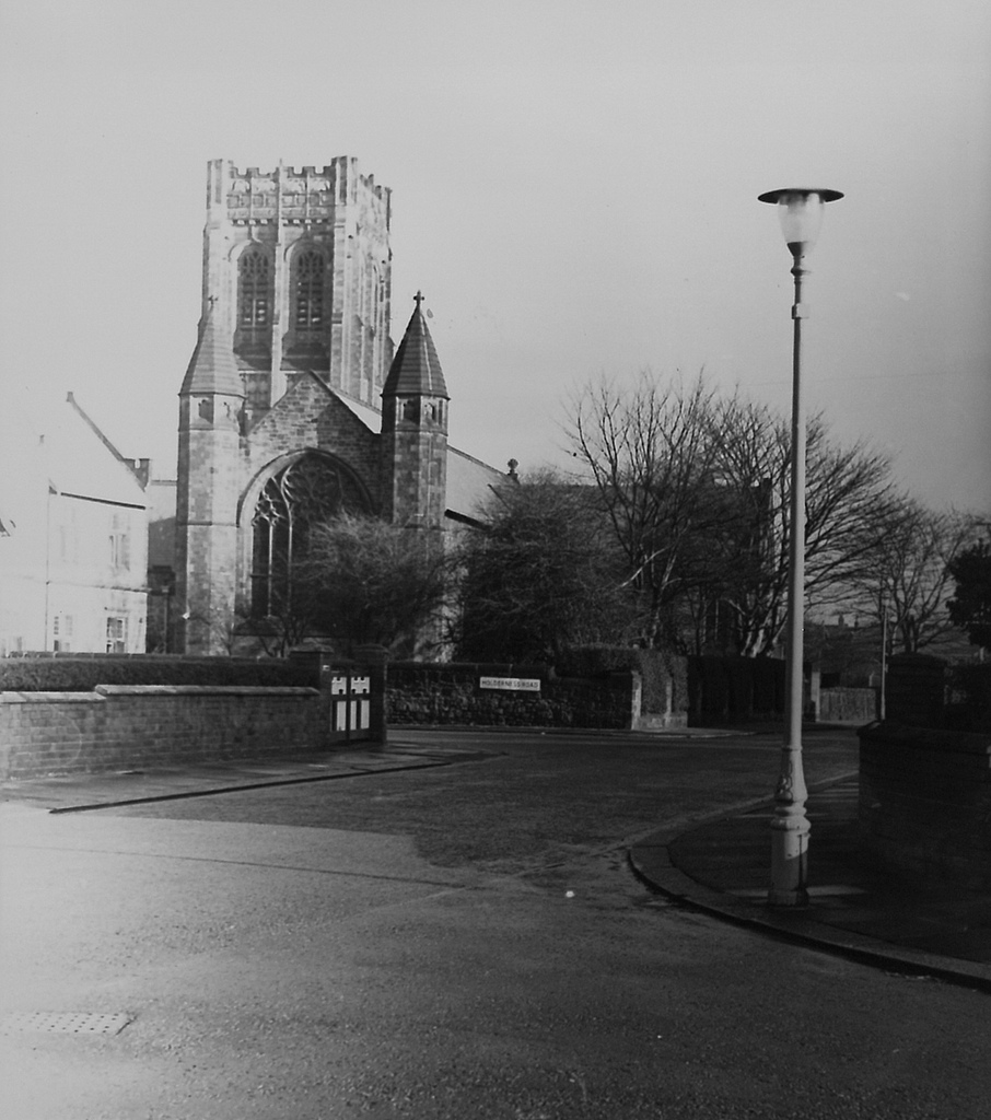
[[[991,889],[991,735],[897,724],[858,734],[867,853],[896,872]]]

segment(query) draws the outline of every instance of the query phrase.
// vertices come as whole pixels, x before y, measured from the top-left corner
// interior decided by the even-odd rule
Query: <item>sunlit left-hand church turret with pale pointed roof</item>
[[[179,391],[176,598],[179,648],[224,653],[234,625],[244,386],[207,305]]]

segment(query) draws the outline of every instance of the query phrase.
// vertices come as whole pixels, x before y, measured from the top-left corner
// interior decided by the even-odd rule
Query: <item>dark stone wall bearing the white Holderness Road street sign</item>
[[[483,689],[483,676],[537,679],[540,691]],[[628,671],[552,679],[526,666],[400,662],[389,666],[386,719],[390,725],[624,729],[636,726],[639,697],[639,676]]]

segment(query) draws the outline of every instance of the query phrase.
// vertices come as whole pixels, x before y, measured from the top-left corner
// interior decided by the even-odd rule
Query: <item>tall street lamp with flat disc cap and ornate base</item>
[[[791,534],[788,540],[788,629],[785,692],[788,712],[782,768],[775,792],[774,818],[770,822],[770,890],[772,906],[804,906],[808,902],[808,819],[805,800],[808,790],[802,771],[802,691],[803,627],[805,614],[805,407],[802,402],[802,320],[808,318],[808,306],[802,302],[802,280],[806,255],[812,252],[825,204],[842,198],[839,190],[819,187],[788,187],[768,190],[758,196],[763,203],[774,203],[785,242],[794,263],[795,324],[792,365],[792,494]]]

